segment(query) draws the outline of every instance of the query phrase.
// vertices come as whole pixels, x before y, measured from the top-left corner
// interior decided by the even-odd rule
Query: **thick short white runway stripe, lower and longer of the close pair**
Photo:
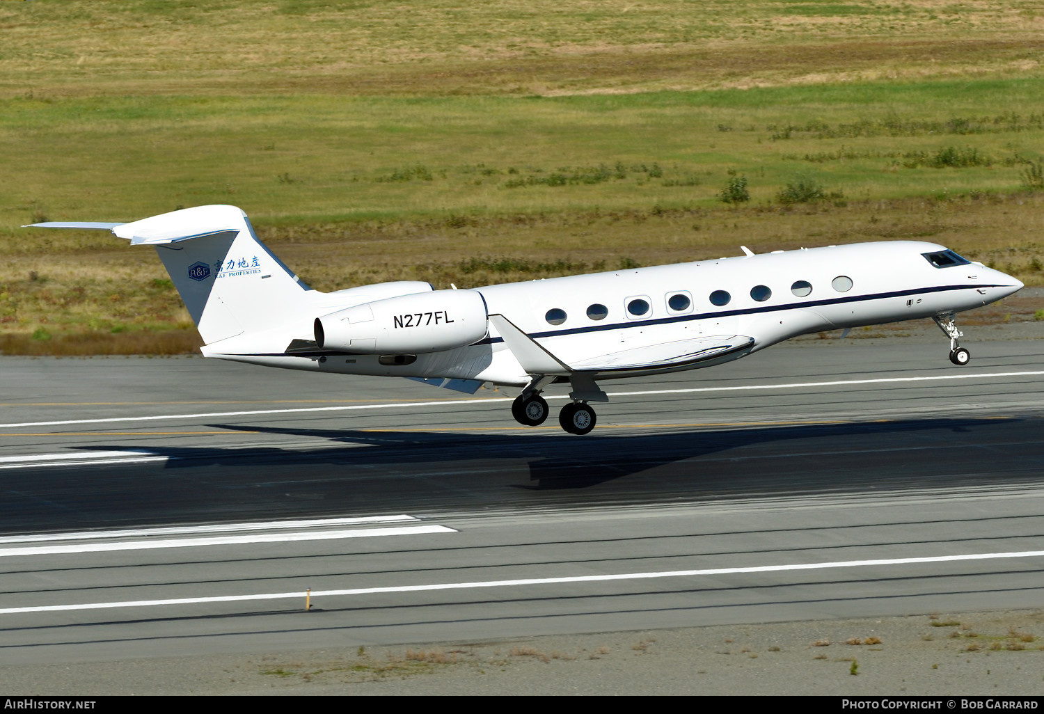
[[[207,538],[175,538],[148,541],[117,541],[114,543],[75,543],[70,545],[26,546],[0,548],[0,557],[17,555],[56,555],[67,553],[100,553],[114,550],[152,550],[155,548],[196,548],[212,545],[253,543],[290,543],[294,541],[332,541],[347,538],[381,538],[385,536],[419,536],[454,533],[440,525],[399,526],[395,528],[359,528],[356,530],[305,530],[283,533],[252,533],[242,536],[211,536]]]

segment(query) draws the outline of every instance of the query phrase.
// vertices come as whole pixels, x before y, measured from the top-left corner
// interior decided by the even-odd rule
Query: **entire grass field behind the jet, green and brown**
[[[1039,2],[38,0],[0,28],[6,353],[194,349],[151,251],[18,227],[211,203],[319,289],[906,237],[1044,284]]]

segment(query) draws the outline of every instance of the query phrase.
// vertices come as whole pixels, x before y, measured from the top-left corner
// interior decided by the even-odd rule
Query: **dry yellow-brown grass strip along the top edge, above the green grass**
[[[1036,67],[1042,25],[1037,3],[1001,0],[4,3],[0,93],[583,93],[981,76]]]

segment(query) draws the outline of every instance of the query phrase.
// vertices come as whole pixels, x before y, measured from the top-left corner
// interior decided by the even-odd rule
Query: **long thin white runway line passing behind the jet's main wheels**
[[[610,397],[644,397],[648,395],[688,395],[712,391],[754,391],[757,389],[810,389],[815,387],[832,386],[858,386],[861,384],[900,384],[909,382],[941,382],[955,380],[976,380],[976,379],[997,379],[1002,377],[1037,377],[1044,375],[1044,371],[1036,372],[993,372],[993,373],[966,373],[959,375],[935,375],[931,377],[883,377],[879,379],[850,379],[835,380],[829,382],[788,382],[783,384],[744,384],[738,386],[715,386],[715,387],[693,387],[689,389],[650,389],[645,391],[612,391]],[[566,395],[546,396],[546,399],[568,399]],[[440,407],[440,406],[471,406],[475,404],[492,404],[495,402],[511,402],[508,397],[496,397],[492,399],[454,399],[437,402],[399,402],[389,404],[353,404],[348,406],[332,407],[302,407],[295,409],[256,409],[252,411],[213,411],[195,414],[157,414],[150,416],[109,416],[105,419],[73,419],[53,422],[16,422],[11,424],[0,424],[0,429],[15,429],[23,427],[41,426],[69,426],[75,424],[111,424],[133,423],[133,422],[156,422],[176,419],[217,419],[219,416],[256,416],[263,414],[293,414],[293,413],[317,413],[322,411],[354,411],[364,409],[405,409],[411,407]],[[0,467],[3,468],[3,467]]]

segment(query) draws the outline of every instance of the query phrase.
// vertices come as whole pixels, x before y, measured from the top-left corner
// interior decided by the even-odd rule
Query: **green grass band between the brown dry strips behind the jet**
[[[863,198],[1012,191],[1041,159],[1041,96],[1042,79],[992,79],[537,98],[14,98],[0,101],[0,162],[17,176],[0,228],[208,203],[294,223],[709,206],[730,170],[748,176],[755,201],[798,174]],[[932,163],[946,151],[987,161]]]

